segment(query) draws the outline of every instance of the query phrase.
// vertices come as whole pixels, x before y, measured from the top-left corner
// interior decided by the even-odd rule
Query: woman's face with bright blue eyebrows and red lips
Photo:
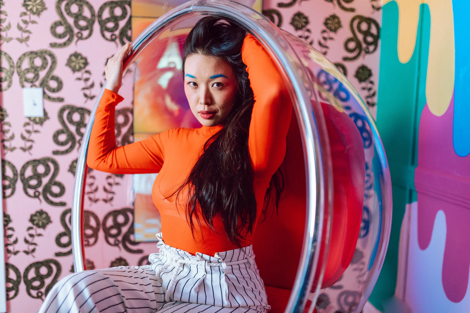
[[[197,120],[204,126],[225,122],[238,91],[230,64],[216,56],[195,53],[186,58],[184,69],[184,92]]]

